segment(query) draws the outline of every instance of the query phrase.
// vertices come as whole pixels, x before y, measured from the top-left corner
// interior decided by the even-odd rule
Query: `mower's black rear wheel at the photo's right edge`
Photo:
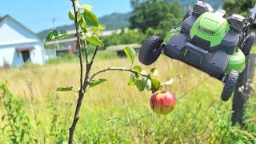
[[[246,56],[250,54],[250,50],[254,45],[255,38],[256,38],[256,35],[254,33],[250,33],[250,35],[247,36],[246,41],[242,45],[242,52]]]

